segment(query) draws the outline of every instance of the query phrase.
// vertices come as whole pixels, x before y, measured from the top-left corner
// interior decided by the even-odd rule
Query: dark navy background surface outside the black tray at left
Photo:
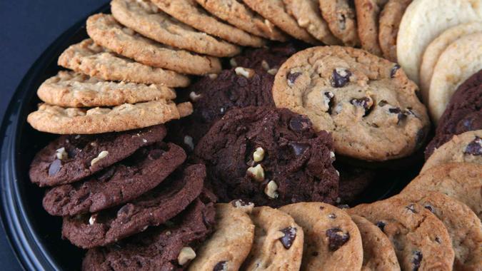
[[[25,73],[66,29],[106,0],[0,0],[0,119]],[[60,232],[59,232],[60,235]],[[21,270],[3,227],[0,270]]]

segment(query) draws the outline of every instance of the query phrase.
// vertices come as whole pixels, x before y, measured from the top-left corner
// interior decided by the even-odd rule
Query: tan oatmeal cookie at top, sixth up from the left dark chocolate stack
[[[265,44],[258,36],[225,24],[216,17],[207,14],[195,0],[151,0],[162,11],[173,16],[199,31],[217,36],[226,41],[242,46],[261,47]]]

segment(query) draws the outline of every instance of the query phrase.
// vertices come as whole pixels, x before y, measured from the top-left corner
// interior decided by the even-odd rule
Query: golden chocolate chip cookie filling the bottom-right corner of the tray
[[[423,190],[398,195],[422,205],[442,221],[455,252],[453,270],[479,270],[482,267],[482,225],[465,204],[448,195]]]

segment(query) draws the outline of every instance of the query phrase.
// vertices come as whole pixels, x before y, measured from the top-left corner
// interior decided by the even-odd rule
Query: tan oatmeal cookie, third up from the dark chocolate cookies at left
[[[168,87],[189,86],[189,78],[175,71],[132,61],[85,39],[69,46],[58,60],[59,66],[70,68],[105,81],[157,84]]]

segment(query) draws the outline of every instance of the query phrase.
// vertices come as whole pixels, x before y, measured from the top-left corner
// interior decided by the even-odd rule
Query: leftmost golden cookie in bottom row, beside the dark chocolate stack
[[[253,245],[254,225],[231,203],[216,204],[213,235],[196,252],[188,270],[239,270]]]

